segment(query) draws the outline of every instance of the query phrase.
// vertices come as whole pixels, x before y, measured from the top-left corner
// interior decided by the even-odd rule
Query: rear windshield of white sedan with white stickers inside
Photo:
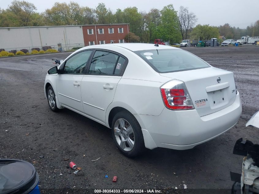
[[[158,73],[210,67],[199,57],[182,49],[154,49],[134,52]]]

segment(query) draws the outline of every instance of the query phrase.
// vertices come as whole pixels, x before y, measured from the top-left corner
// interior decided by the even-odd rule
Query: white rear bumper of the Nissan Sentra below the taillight
[[[176,150],[191,149],[209,141],[233,127],[242,112],[239,93],[227,108],[199,116],[197,111],[172,111],[164,108],[159,116],[135,115],[143,128],[145,146]]]

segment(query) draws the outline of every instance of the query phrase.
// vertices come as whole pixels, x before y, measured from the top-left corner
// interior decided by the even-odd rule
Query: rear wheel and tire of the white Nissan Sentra
[[[128,111],[118,112],[113,117],[112,138],[120,152],[127,157],[138,156],[145,149],[141,127]]]

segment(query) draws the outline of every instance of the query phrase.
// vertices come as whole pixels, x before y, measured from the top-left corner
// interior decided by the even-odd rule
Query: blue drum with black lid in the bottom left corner
[[[1,194],[40,194],[38,182],[39,175],[31,163],[0,159]]]

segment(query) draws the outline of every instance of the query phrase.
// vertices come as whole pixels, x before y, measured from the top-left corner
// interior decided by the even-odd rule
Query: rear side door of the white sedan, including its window
[[[118,53],[96,50],[83,76],[81,95],[87,115],[105,123],[105,112],[112,103],[116,87],[128,59]]]

